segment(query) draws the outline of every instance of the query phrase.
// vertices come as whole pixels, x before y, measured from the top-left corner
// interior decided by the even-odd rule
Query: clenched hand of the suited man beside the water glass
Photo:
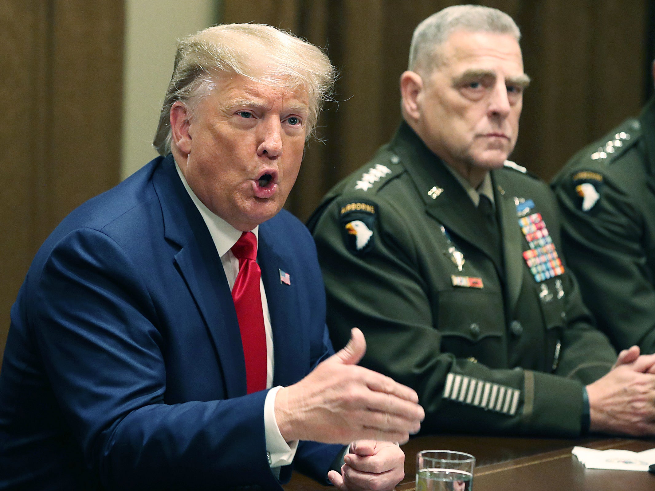
[[[405,477],[405,454],[393,443],[356,441],[343,460],[341,474],[327,473],[327,478],[339,491],[388,491]]]

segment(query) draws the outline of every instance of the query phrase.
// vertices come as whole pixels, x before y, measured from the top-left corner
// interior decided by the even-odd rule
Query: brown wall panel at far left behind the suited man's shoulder
[[[122,2],[3,0],[0,8],[0,353],[39,246],[119,181]]]

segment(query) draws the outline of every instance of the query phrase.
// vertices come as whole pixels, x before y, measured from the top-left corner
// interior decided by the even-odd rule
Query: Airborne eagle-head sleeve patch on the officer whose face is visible
[[[360,255],[373,249],[376,219],[377,205],[374,203],[358,200],[341,206],[339,222],[348,251]]]

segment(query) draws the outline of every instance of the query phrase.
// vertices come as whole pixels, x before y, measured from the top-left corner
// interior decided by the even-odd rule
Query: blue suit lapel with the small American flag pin
[[[309,367],[309,346],[303,333],[299,286],[301,272],[290,256],[275,247],[276,230],[269,222],[259,226],[257,263],[266,291],[273,331],[273,385],[288,386]],[[280,281],[280,270],[290,275],[291,285]]]

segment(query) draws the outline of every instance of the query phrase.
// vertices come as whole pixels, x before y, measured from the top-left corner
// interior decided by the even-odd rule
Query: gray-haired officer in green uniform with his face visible
[[[413,34],[403,122],[310,218],[335,344],[419,393],[422,432],[654,434],[653,357],[616,352],[562,256],[548,186],[507,160],[519,29],[449,7]]]

